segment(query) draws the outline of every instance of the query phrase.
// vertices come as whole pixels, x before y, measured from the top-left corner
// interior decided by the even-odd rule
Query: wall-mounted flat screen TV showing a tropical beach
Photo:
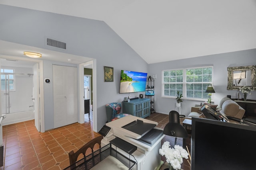
[[[119,93],[144,92],[148,73],[121,70]]]

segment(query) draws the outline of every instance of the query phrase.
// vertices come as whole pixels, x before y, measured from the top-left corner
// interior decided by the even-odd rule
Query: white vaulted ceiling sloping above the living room
[[[0,0],[105,21],[148,64],[256,48],[256,0]]]

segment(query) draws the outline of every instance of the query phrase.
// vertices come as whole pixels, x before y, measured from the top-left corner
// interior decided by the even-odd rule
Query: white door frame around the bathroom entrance
[[[39,64],[39,94],[38,94],[38,106],[39,108],[39,116],[40,117],[40,132],[44,133],[45,132],[45,127],[44,127],[44,68],[43,68],[43,61],[39,59],[32,59],[32,58],[21,58],[21,57],[13,57],[13,56],[8,56],[8,55],[0,55],[0,58],[4,59],[13,59],[13,60],[20,60],[20,61],[28,61],[28,62],[33,62],[33,63],[38,63]],[[2,115],[2,110],[0,110],[0,115]]]

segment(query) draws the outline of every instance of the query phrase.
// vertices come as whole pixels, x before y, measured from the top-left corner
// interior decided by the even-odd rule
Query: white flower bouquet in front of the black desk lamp
[[[188,152],[179,145],[170,148],[168,141],[164,142],[162,148],[159,149],[159,154],[165,156],[166,162],[171,164],[172,168],[179,170],[183,162],[182,158],[188,159]]]

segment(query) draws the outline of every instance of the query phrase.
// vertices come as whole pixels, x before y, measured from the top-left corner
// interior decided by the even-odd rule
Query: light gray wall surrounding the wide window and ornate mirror
[[[163,63],[149,64],[148,70],[150,75],[156,74],[155,84],[155,109],[158,113],[168,114],[171,110],[175,110],[176,100],[174,98],[162,98],[162,70],[191,68],[199,66],[213,66],[213,86],[215,90],[214,104],[218,104],[223,97],[231,95],[232,98],[237,98],[237,90],[227,90],[228,85],[228,67],[232,66],[250,66],[256,65],[256,49],[237,51],[232,53],[222,53],[216,55],[208,55],[203,57],[195,57],[191,59],[181,59]],[[241,95],[241,94],[240,94]],[[242,98],[242,97],[241,97]],[[256,100],[256,92],[248,95],[248,99]],[[205,100],[183,100],[182,114],[188,115],[191,106],[200,104]]]

